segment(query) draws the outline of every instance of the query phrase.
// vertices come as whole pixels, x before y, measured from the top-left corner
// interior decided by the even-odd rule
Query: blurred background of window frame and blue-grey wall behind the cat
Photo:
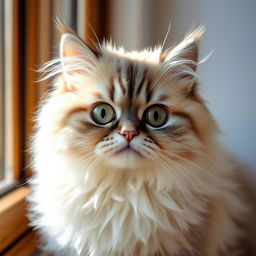
[[[0,193],[31,175],[33,116],[49,88],[36,83],[36,70],[58,55],[57,16],[88,44],[111,38],[128,50],[161,44],[170,23],[166,47],[204,24],[200,58],[214,52],[198,68],[202,94],[223,131],[220,141],[256,170],[255,0],[0,0]],[[5,222],[3,232],[1,217],[0,200],[0,254],[27,232],[26,220],[19,232]]]

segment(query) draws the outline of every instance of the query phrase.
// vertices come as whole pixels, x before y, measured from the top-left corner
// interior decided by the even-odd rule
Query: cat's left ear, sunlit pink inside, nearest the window
[[[60,58],[63,73],[69,77],[74,74],[86,75],[94,70],[98,54],[74,34],[65,33],[60,40]]]

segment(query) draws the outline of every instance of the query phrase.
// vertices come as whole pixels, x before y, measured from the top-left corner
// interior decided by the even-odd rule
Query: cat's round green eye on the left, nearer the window
[[[100,103],[92,109],[91,118],[96,124],[105,125],[114,120],[115,111],[109,104]]]

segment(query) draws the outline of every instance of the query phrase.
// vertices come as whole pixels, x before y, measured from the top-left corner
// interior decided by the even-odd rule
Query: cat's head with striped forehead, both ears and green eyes
[[[43,111],[58,150],[121,169],[175,166],[203,151],[218,129],[198,94],[202,33],[164,52],[92,50],[63,34],[60,59],[44,67],[58,74]]]

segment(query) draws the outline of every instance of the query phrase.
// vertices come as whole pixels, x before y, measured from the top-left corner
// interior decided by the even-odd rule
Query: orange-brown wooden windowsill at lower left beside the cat
[[[26,197],[30,192],[22,186],[0,198],[0,254],[29,229]]]

